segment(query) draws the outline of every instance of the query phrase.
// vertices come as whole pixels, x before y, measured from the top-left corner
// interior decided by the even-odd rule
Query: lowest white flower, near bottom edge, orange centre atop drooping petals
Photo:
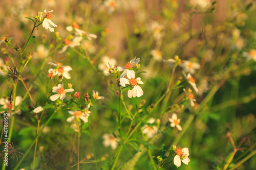
[[[190,162],[190,159],[188,158],[189,156],[189,151],[188,148],[176,148],[175,150],[176,156],[174,157],[174,164],[178,167],[181,165],[181,161],[188,165],[188,162]]]

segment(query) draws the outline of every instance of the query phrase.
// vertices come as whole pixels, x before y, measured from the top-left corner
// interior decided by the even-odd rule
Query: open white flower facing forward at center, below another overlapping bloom
[[[141,95],[143,95],[143,90],[142,88],[138,85],[138,84],[144,84],[140,78],[138,77],[137,79],[135,78],[135,72],[134,70],[129,70],[127,69],[127,78],[129,79],[125,79],[125,78],[120,78],[120,84],[121,86],[125,87],[125,84],[129,84],[132,85],[133,89],[132,90],[128,90],[128,97],[132,98],[132,97],[140,97]]]

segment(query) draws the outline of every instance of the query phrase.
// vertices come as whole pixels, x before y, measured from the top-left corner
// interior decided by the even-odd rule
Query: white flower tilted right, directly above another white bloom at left
[[[72,70],[72,68],[70,66],[62,65],[62,63],[58,63],[58,62],[56,62],[56,63],[49,62],[48,64],[57,67],[55,69],[50,68],[48,70],[49,73],[53,72],[53,76],[55,76],[55,75],[58,75],[58,76],[62,75],[66,79],[71,79],[70,74],[68,72],[68,71]]]

